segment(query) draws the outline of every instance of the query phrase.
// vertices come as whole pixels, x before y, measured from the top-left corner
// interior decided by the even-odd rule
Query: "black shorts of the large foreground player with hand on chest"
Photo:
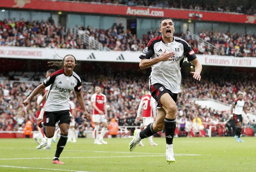
[[[157,101],[157,108],[162,107],[160,98],[164,93],[169,93],[171,98],[176,102],[177,100],[177,93],[172,93],[169,89],[166,89],[162,84],[153,84],[150,86],[150,93],[151,96]]]

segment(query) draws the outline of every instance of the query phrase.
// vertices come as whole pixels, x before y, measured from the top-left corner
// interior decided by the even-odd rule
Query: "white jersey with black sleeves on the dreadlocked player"
[[[45,102],[45,111],[54,112],[59,110],[69,110],[69,96],[71,90],[74,89],[76,92],[81,91],[81,79],[73,72],[71,76],[64,74],[64,69],[53,72],[43,82],[45,86],[51,87],[47,93]]]

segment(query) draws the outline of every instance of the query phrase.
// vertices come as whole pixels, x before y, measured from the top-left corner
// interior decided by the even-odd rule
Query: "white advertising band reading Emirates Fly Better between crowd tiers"
[[[132,62],[139,63],[140,52],[110,51],[103,52],[98,50],[78,50],[78,49],[47,49],[1,46],[0,58],[17,59],[50,59],[60,60],[60,57],[73,54],[77,60],[96,61],[96,62]],[[220,55],[197,55],[202,65],[228,66],[228,67],[256,67],[256,58],[253,57],[231,57]]]

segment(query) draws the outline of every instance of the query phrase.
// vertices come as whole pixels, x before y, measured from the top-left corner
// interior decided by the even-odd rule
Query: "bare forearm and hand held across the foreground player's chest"
[[[150,59],[141,59],[140,60],[140,69],[146,69],[151,67],[154,64],[157,64],[158,62],[167,61],[167,60],[173,60],[173,57],[175,56],[174,52],[166,53],[166,50],[159,55],[157,58],[150,58]]]

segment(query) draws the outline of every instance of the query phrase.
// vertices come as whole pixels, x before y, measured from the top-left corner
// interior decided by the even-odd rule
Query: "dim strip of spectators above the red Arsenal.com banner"
[[[55,1],[55,0],[54,0]],[[150,8],[175,8],[175,9],[189,9],[189,10],[206,10],[206,11],[217,11],[217,12],[237,12],[253,15],[256,14],[256,10],[253,4],[246,3],[243,5],[234,5],[232,2],[225,3],[209,3],[208,1],[193,0],[191,2],[185,0],[68,0],[68,1],[77,1],[77,2],[91,2],[99,4],[122,4],[128,6],[144,6]]]

